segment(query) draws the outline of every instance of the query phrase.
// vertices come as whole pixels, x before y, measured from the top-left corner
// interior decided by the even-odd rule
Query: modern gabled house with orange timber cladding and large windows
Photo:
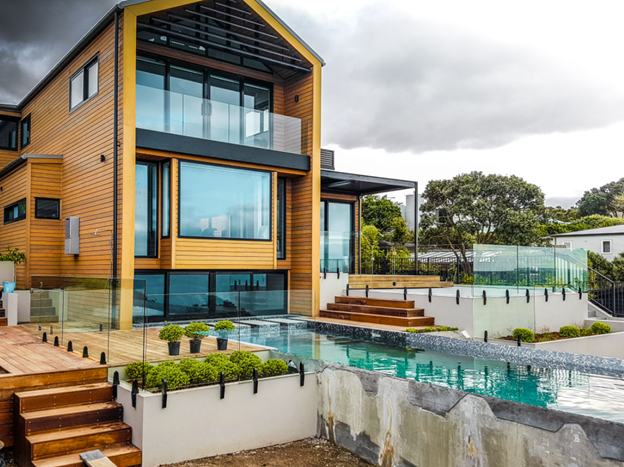
[[[359,198],[417,189],[332,170],[323,65],[260,0],[117,5],[0,105],[0,248],[26,253],[18,289],[134,281],[121,328],[135,293],[153,321],[216,316],[241,291],[265,292],[259,313],[318,313],[320,271],[357,271]]]

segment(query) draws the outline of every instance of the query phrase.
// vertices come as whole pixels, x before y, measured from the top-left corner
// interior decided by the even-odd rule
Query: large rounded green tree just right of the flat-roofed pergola
[[[451,246],[467,261],[466,249],[482,244],[540,244],[538,220],[544,194],[516,176],[461,174],[427,184],[421,226],[425,236]]]

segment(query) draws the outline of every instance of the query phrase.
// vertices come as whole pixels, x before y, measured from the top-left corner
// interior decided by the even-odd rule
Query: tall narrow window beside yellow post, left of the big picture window
[[[158,165],[136,163],[134,255],[158,256]]]

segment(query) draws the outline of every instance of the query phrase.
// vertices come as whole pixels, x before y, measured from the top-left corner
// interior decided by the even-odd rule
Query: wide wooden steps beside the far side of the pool
[[[435,318],[426,317],[425,310],[415,308],[413,300],[336,297],[336,302],[328,303],[327,310],[321,310],[320,314],[321,318],[405,328],[435,324]]]

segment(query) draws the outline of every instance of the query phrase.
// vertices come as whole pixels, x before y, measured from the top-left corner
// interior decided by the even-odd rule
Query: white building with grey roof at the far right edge
[[[602,255],[613,261],[624,253],[624,225],[601,227],[599,229],[579,230],[552,236],[555,245],[564,245],[566,248],[584,248]]]

